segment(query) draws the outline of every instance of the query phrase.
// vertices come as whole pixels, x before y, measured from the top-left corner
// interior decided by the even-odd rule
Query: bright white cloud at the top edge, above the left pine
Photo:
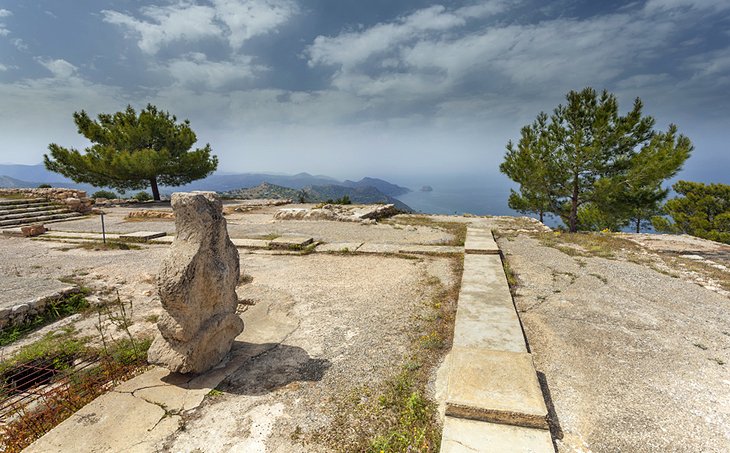
[[[129,30],[143,52],[156,54],[177,41],[206,38],[226,40],[239,50],[249,39],[276,30],[297,11],[293,0],[213,0],[208,6],[178,0],[141,8],[141,19],[113,10],[102,14],[106,22]]]

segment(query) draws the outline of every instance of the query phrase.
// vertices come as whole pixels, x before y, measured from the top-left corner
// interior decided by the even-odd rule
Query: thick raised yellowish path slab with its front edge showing
[[[548,429],[530,354],[454,347],[450,361],[446,415]]]

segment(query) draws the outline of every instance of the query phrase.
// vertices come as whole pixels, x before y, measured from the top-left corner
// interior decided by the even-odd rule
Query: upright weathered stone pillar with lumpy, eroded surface
[[[172,209],[177,236],[157,277],[165,313],[148,360],[175,372],[202,373],[243,331],[236,314],[238,250],[214,192],[175,193]]]

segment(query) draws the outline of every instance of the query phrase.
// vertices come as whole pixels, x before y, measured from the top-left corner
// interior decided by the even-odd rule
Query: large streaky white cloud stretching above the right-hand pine
[[[544,95],[607,86],[651,67],[680,27],[693,26],[681,15],[641,9],[505,24],[484,21],[504,8],[487,5],[478,17],[476,7],[433,6],[363,30],[318,36],[307,48],[308,63],[334,67],[333,87],[368,97],[446,102],[469,85],[481,86],[482,96],[496,89]],[[470,17],[481,20],[468,26]]]

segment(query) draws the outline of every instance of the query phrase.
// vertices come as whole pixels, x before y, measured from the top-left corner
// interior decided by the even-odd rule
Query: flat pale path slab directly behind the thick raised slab
[[[527,352],[522,325],[511,300],[505,304],[483,292],[459,294],[454,346]]]

